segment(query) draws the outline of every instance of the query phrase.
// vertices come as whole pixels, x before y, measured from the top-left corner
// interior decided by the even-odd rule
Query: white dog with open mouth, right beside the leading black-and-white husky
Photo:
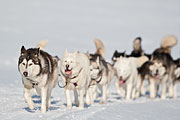
[[[74,53],[65,54],[60,62],[61,78],[65,85],[65,95],[67,100],[67,107],[72,108],[70,98],[70,91],[74,91],[75,105],[84,108],[84,95],[86,95],[86,102],[89,103],[91,98],[89,96],[88,86],[90,84],[90,62],[88,57],[75,51]],[[80,99],[78,101],[79,91]]]

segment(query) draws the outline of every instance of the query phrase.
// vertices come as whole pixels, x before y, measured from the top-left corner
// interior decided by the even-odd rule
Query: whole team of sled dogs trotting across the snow
[[[127,100],[146,94],[145,81],[148,81],[147,90],[151,99],[157,97],[160,85],[161,99],[166,99],[167,92],[169,97],[177,97],[180,58],[173,60],[171,57],[171,49],[177,44],[175,36],[166,36],[160,48],[152,54],[143,51],[141,38],[137,37],[133,43],[132,53],[127,55],[116,50],[112,64],[104,58],[105,47],[102,41],[96,39],[94,42],[95,53],[79,51],[69,53],[66,49],[61,59],[45,52],[47,45],[45,40],[40,41],[35,48],[26,49],[22,46],[18,70],[22,75],[24,98],[31,110],[34,109],[33,89],[41,96],[41,112],[48,110],[51,104],[51,92],[58,84],[59,73],[65,90],[67,107],[70,109],[72,108],[71,91],[74,92],[74,103],[79,108],[84,108],[85,103],[93,104],[99,94],[101,94],[100,104],[106,103],[112,79],[115,79],[117,93]]]

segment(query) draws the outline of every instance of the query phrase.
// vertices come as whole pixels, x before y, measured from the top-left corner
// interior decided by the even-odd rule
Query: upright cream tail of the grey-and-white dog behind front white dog
[[[105,56],[105,48],[104,48],[104,44],[102,43],[102,41],[99,39],[95,39],[94,43],[96,45],[96,53],[95,54],[99,54],[102,57],[104,57]]]

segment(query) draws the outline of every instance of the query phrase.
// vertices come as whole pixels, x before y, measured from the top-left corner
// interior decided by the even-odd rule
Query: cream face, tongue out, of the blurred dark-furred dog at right
[[[154,61],[152,65],[149,66],[150,75],[155,79],[160,79],[166,74],[166,66],[162,62]]]

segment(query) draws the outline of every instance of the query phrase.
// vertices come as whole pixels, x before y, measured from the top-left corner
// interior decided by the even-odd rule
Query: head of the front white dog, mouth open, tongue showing
[[[66,49],[64,57],[61,59],[61,70],[66,77],[70,77],[73,69],[77,68],[78,66],[77,54],[78,51],[68,53]]]

